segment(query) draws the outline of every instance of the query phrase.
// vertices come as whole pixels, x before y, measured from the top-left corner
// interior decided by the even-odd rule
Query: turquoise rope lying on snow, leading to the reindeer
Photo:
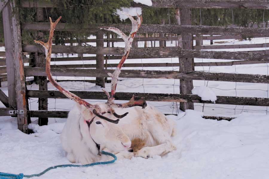
[[[94,163],[89,163],[89,164],[85,164],[85,165],[73,165],[73,164],[56,165],[56,166],[51,166],[51,167],[45,169],[43,172],[40,172],[38,174],[33,174],[33,175],[24,175],[23,173],[11,174],[11,173],[2,173],[2,172],[0,172],[0,179],[22,179],[23,177],[26,177],[26,178],[39,177],[39,176],[43,175],[44,173],[48,172],[51,169],[68,167],[68,166],[87,167],[87,166],[94,166],[94,165],[105,165],[105,164],[109,164],[109,163],[114,163],[117,160],[116,155],[114,155],[112,153],[105,152],[105,151],[102,150],[102,154],[110,155],[114,159],[111,160],[111,161],[107,161],[107,162],[94,162]]]

